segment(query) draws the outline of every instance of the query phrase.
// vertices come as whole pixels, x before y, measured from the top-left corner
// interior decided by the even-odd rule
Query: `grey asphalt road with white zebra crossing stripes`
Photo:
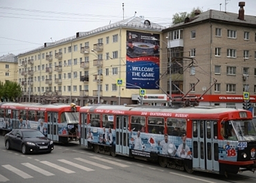
[[[77,143],[65,146],[55,144],[50,154],[23,155],[18,151],[7,151],[4,138],[0,136],[0,182],[254,183],[255,180],[256,176],[251,172],[228,178],[209,173],[188,174],[123,156],[95,154]]]

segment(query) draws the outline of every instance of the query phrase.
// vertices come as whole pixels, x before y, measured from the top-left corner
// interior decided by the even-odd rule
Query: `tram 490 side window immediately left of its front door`
[[[168,118],[167,125],[168,125],[168,135],[182,136],[183,134],[186,134],[185,119]]]

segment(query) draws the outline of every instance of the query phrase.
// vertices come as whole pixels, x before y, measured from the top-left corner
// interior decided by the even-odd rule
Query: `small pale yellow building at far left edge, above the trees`
[[[17,59],[12,53],[0,56],[0,81],[17,82]]]

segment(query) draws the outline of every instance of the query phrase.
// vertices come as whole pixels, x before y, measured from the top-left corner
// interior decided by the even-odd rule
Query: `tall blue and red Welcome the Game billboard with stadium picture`
[[[160,35],[137,31],[126,34],[126,88],[159,89]]]

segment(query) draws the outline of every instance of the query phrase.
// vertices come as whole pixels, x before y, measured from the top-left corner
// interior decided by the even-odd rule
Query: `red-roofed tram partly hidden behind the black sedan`
[[[54,142],[79,140],[78,111],[74,104],[0,103],[0,131],[38,129]]]

